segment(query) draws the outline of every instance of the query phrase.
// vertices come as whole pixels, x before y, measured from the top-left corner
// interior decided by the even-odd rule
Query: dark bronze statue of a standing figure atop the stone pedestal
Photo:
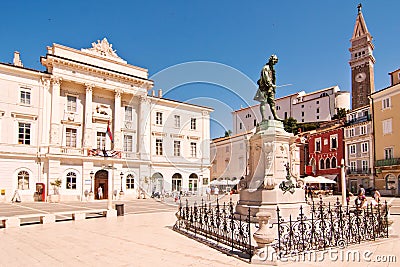
[[[257,81],[258,90],[254,96],[254,100],[260,102],[260,112],[262,121],[265,121],[265,104],[268,103],[271,109],[271,113],[274,116],[274,120],[282,121],[276,115],[275,110],[275,88],[276,88],[276,77],[274,65],[278,63],[278,57],[276,55],[270,56],[268,63],[264,65],[261,70],[261,77]]]

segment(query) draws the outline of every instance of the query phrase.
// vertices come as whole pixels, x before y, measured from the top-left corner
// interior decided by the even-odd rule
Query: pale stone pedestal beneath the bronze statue
[[[294,136],[283,128],[280,121],[264,121],[257,127],[256,133],[250,138],[249,175],[240,182],[239,202],[236,213],[247,215],[250,208],[252,220],[256,221],[259,211],[270,212],[271,222],[276,222],[276,210],[279,206],[280,215],[288,217],[297,215],[300,206],[307,212],[304,189],[294,188],[296,180],[290,177],[293,165],[291,149]],[[291,191],[279,188],[288,177],[293,183]]]

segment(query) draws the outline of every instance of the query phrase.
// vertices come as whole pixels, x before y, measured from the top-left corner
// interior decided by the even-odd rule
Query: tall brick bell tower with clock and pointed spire
[[[358,15],[354,26],[353,36],[350,39],[350,67],[351,67],[351,100],[352,109],[369,105],[368,96],[375,91],[374,64],[372,54],[374,45],[372,36],[368,32],[361,4],[357,6]]]

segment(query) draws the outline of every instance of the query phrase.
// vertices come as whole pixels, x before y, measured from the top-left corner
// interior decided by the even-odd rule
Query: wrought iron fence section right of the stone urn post
[[[273,247],[280,257],[329,247],[344,248],[349,244],[388,237],[388,208],[372,204],[365,208],[343,207],[339,199],[333,205],[322,200],[311,205],[309,214],[303,207],[297,218],[285,220],[277,208],[278,238]],[[307,212],[308,213],[308,212]]]

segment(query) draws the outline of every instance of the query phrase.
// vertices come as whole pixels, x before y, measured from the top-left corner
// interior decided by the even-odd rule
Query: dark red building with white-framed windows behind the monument
[[[308,136],[306,174],[336,181],[334,190],[341,190],[340,162],[344,158],[343,126],[320,128]]]

